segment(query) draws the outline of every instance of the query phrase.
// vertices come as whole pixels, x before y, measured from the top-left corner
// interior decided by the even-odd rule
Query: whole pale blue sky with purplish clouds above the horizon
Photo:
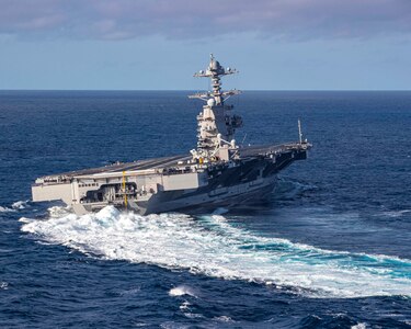
[[[0,0],[0,89],[410,90],[411,0]]]

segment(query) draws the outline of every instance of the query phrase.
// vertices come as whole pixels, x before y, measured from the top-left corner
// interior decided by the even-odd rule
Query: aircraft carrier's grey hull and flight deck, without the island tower
[[[183,155],[43,177],[32,186],[33,201],[61,200],[77,214],[107,205],[141,215],[232,207],[270,196],[277,173],[295,160],[306,159],[307,145],[239,151],[241,160],[203,167],[190,163],[190,157]]]

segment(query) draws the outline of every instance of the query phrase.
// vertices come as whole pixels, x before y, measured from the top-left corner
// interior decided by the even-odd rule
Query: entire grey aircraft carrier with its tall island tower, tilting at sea
[[[298,141],[237,145],[242,118],[226,101],[240,91],[222,91],[220,82],[237,72],[212,55],[208,67],[194,75],[210,78],[212,90],[189,97],[205,101],[197,115],[197,147],[190,154],[42,177],[32,185],[33,201],[60,200],[79,215],[107,205],[147,215],[230,207],[270,195],[277,173],[306,159],[311,145],[302,140],[299,122]]]

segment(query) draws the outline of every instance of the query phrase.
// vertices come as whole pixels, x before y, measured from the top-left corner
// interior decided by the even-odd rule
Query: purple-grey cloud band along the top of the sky
[[[22,38],[357,38],[410,34],[410,0],[0,0],[0,34]]]

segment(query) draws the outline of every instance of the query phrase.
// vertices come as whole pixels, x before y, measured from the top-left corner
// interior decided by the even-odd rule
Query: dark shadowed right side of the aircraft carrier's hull
[[[306,152],[285,152],[277,157],[275,162],[260,156],[242,159],[238,167],[217,166],[208,171],[209,180],[206,186],[158,192],[148,201],[137,201],[129,207],[147,215],[165,212],[192,213],[199,208],[232,207],[248,201],[254,202],[256,196],[269,194],[274,189],[277,172],[295,160],[305,158]]]

